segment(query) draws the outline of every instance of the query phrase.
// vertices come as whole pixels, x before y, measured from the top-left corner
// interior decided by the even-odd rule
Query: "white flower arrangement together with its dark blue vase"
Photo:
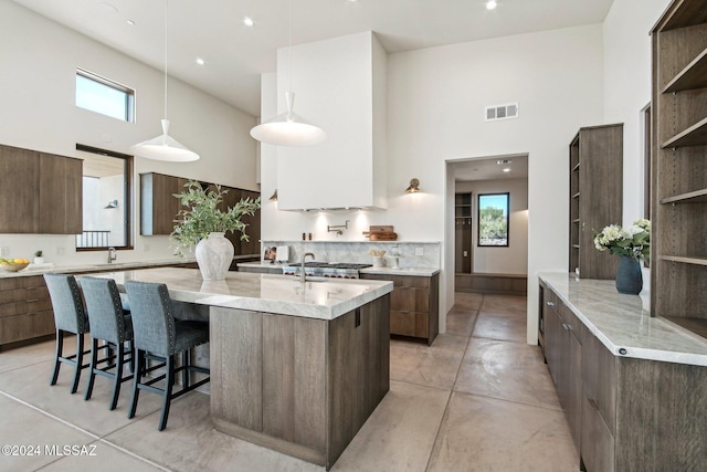
[[[651,255],[651,221],[640,219],[630,227],[610,224],[594,235],[594,247],[620,255],[616,270],[619,293],[637,295],[643,289],[641,260]]]

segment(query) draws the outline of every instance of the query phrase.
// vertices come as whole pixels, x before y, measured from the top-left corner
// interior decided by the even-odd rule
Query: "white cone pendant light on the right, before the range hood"
[[[261,143],[275,146],[313,146],[324,143],[327,132],[304,119],[293,112],[295,94],[292,91],[292,0],[288,13],[288,53],[289,53],[289,90],[285,93],[287,112],[262,123],[251,129],[251,136]]]

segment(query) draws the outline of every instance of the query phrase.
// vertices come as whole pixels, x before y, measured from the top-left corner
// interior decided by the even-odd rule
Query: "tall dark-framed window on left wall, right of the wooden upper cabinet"
[[[83,159],[83,232],[76,250],[130,249],[133,157],[76,145]]]

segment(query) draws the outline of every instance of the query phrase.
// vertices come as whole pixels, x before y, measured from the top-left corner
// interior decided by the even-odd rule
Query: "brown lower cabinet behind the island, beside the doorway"
[[[361,279],[390,281],[390,334],[424,339],[431,345],[440,332],[440,275],[361,274]]]

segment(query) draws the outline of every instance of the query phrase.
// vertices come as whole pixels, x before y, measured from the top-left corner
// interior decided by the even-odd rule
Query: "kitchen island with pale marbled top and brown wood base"
[[[336,462],[390,387],[392,283],[198,270],[96,274],[161,282],[208,307],[215,429],[324,465]]]

